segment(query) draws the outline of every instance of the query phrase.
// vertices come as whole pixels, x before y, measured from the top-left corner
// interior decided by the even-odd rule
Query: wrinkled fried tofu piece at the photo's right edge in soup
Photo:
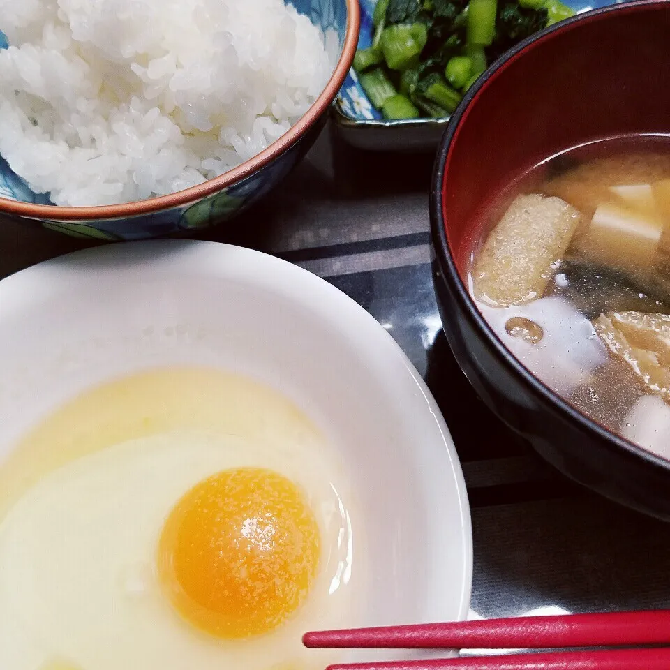
[[[613,358],[625,362],[648,391],[670,403],[670,315],[608,312],[593,327]]]

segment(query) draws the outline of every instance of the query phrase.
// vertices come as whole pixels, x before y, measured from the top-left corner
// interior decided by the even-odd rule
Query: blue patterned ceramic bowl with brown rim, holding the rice
[[[311,147],[325,123],[356,51],[358,0],[290,0],[339,49],[336,68],[315,103],[295,126],[258,156],[221,177],[172,195],[106,207],[55,207],[28,188],[0,156],[0,214],[38,221],[76,237],[130,240],[207,228],[226,221],[278,184]],[[6,47],[0,33],[0,48]]]

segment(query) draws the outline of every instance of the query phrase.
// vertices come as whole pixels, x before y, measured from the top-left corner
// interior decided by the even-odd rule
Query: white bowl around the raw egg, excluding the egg
[[[170,364],[264,380],[351,463],[373,566],[359,623],[466,618],[470,512],[429,390],[364,309],[268,255],[149,241],[73,253],[1,281],[0,465],[71,396]]]

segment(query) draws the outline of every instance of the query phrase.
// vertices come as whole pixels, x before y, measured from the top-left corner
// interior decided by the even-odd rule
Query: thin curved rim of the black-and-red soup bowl
[[[477,83],[464,96],[461,104],[456,109],[449,121],[447,131],[443,135],[438,148],[438,153],[435,157],[435,165],[433,169],[433,184],[431,188],[431,239],[433,242],[433,249],[435,258],[438,260],[443,271],[442,275],[445,282],[449,285],[452,294],[456,296],[459,307],[474,327],[479,336],[484,338],[490,350],[493,350],[498,360],[507,367],[507,369],[520,378],[523,384],[530,389],[535,396],[542,400],[544,405],[553,406],[562,419],[567,422],[576,424],[582,431],[593,433],[600,438],[602,445],[608,449],[624,452],[627,456],[632,456],[634,459],[641,459],[646,461],[649,466],[657,469],[667,471],[670,470],[670,461],[657,456],[648,449],[644,449],[634,442],[623,438],[613,431],[606,429],[602,424],[599,424],[594,419],[590,419],[585,414],[577,410],[574,405],[565,401],[556,392],[550,389],[544,382],[535,377],[533,373],[528,370],[521,362],[516,359],[512,352],[502,343],[502,340],[496,335],[493,329],[486,322],[482,313],[479,312],[474,299],[470,297],[470,293],[466,288],[465,283],[461,279],[459,270],[456,267],[454,256],[452,255],[451,246],[447,239],[447,230],[445,226],[444,217],[444,201],[443,194],[445,188],[445,172],[451,159],[451,148],[454,140],[459,135],[461,122],[466,119],[470,112],[470,107],[477,101],[481,91],[486,88],[487,84],[498,77],[507,67],[511,66],[514,61],[523,57],[524,55],[533,51],[533,48],[539,43],[546,40],[551,40],[560,34],[570,31],[575,27],[575,24],[591,23],[603,20],[611,13],[632,14],[639,11],[653,10],[668,10],[670,11],[669,0],[636,0],[632,2],[625,2],[611,6],[600,7],[589,12],[575,15],[569,19],[563,20],[537,32],[535,35],[526,38],[521,43],[512,47],[509,52],[504,54],[496,63],[494,63],[486,73],[482,75]]]

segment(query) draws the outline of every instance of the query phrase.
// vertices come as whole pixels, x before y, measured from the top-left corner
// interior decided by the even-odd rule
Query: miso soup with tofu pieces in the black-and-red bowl
[[[469,288],[502,342],[585,415],[670,459],[670,137],[549,158],[479,223]]]

